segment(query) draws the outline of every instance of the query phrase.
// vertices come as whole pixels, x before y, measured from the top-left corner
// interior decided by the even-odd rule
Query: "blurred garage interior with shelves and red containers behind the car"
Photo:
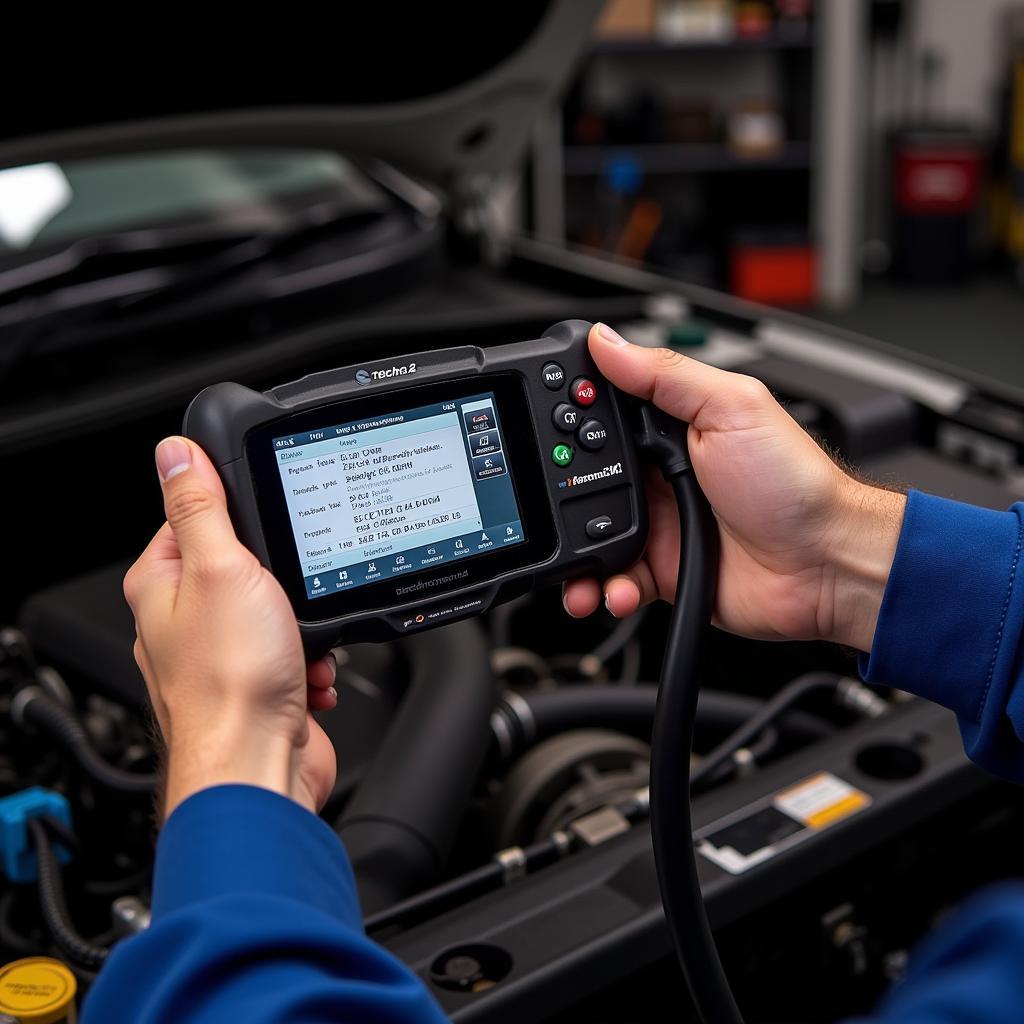
[[[542,236],[1024,381],[1024,5],[610,0]]]

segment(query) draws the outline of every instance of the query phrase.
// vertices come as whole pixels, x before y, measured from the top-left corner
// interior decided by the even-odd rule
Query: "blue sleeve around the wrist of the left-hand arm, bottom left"
[[[153,924],[115,948],[83,1014],[83,1024],[444,1020],[364,933],[338,837],[245,785],[205,790],[167,820]]]

